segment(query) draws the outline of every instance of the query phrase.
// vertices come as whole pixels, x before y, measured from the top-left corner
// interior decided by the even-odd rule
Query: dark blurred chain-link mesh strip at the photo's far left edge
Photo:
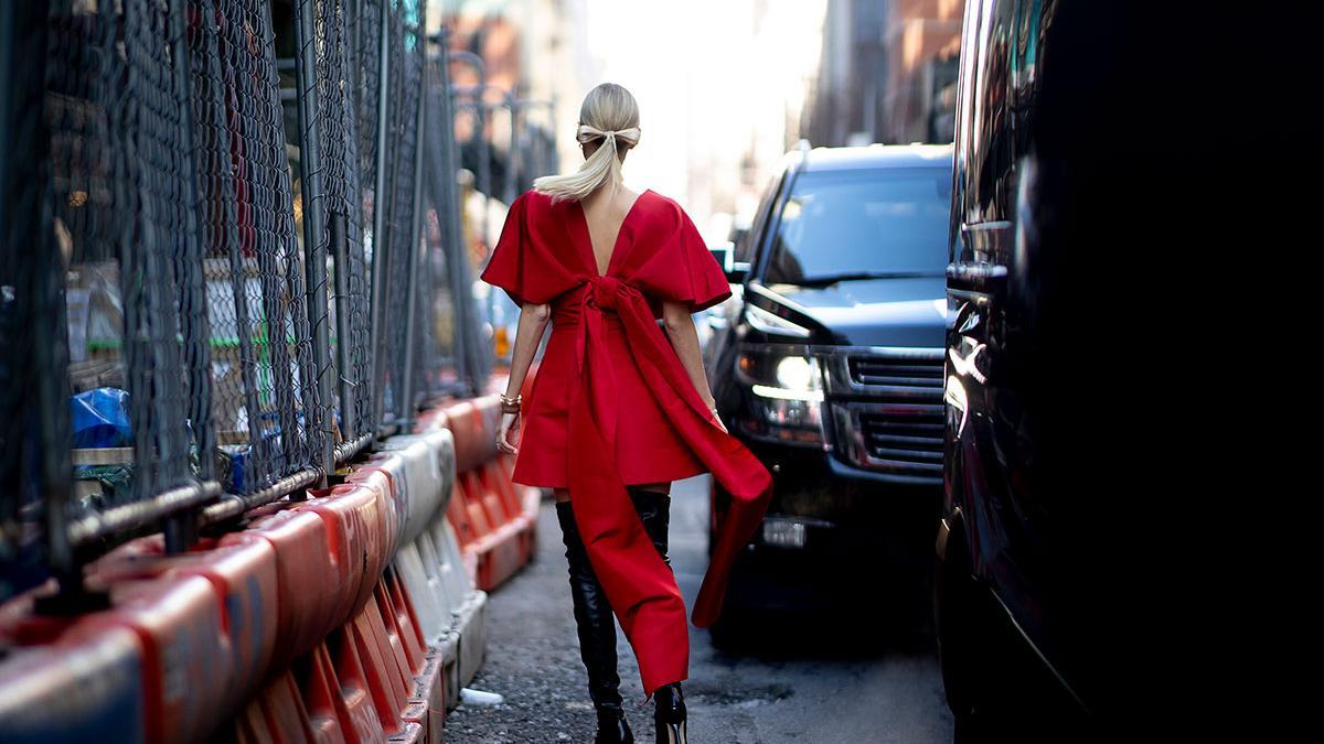
[[[50,556],[44,549],[44,491],[68,487],[68,417],[41,414],[41,383],[56,405],[66,405],[68,359],[58,338],[64,257],[49,209],[49,136],[40,115],[49,40],[45,5],[0,7],[0,598],[42,582]],[[34,114],[36,113],[36,114]],[[42,343],[45,339],[46,343]],[[54,445],[54,446],[53,446]],[[48,483],[44,459],[65,483]]]

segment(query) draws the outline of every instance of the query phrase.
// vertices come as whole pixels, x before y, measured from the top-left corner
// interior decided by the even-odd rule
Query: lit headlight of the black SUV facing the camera
[[[788,443],[822,443],[822,369],[805,347],[743,344],[737,379],[752,393],[753,416],[741,420],[748,433]]]

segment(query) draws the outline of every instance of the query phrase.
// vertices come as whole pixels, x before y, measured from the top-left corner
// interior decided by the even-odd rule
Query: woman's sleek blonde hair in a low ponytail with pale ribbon
[[[621,158],[639,142],[639,105],[629,90],[612,82],[588,91],[580,106],[575,139],[584,144],[598,138],[602,144],[577,172],[535,179],[534,189],[552,195],[553,203],[563,199],[579,201],[604,184],[614,189],[621,183]]]

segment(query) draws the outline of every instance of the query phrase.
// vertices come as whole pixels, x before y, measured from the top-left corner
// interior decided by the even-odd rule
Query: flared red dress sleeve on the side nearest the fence
[[[511,203],[500,237],[479,278],[506,290],[515,304],[543,304],[575,286],[576,279],[559,256],[555,241],[535,225],[547,222],[545,199],[527,191]]]

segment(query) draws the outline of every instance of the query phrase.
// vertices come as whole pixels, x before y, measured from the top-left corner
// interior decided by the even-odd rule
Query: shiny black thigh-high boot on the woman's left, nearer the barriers
[[[597,737],[593,741],[626,744],[634,741],[634,733],[621,707],[621,678],[616,671],[616,617],[597,573],[593,572],[593,564],[589,563],[569,502],[556,504],[556,519],[561,523],[565,560],[569,564],[580,658],[588,671],[588,694],[597,711]]]

